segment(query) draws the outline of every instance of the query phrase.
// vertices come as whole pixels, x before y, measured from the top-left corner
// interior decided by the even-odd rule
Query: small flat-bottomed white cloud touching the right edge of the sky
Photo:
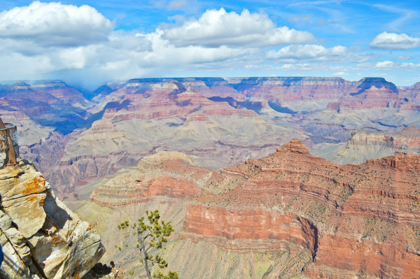
[[[370,48],[380,50],[406,50],[409,48],[420,48],[420,38],[385,31],[374,37],[369,45]]]

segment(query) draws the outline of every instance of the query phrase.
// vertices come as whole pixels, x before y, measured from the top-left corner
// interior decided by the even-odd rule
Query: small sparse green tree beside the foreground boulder
[[[145,218],[141,217],[139,219],[139,223],[130,225],[128,221],[125,221],[118,225],[118,229],[131,229],[133,235],[137,236],[136,248],[140,251],[140,262],[144,264],[146,276],[149,279],[178,279],[178,273],[174,271],[169,271],[166,276],[161,271],[158,271],[158,273],[153,273],[152,275],[152,266],[157,264],[160,269],[164,269],[168,266],[168,264],[165,262],[165,259],[160,257],[160,255],[156,254],[155,257],[153,257],[149,255],[149,252],[162,248],[162,245],[167,243],[167,236],[170,236],[174,229],[172,229],[171,222],[165,222],[163,220],[159,222],[160,215],[158,210],[151,212],[146,210],[146,215],[146,222]],[[120,247],[116,247],[121,250]]]

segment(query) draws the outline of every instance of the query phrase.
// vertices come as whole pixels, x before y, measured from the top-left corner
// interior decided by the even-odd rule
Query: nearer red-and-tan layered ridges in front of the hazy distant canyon
[[[290,141],[221,171],[193,159],[146,157],[78,212],[102,222],[101,212],[109,220],[159,208],[175,224],[165,257],[182,278],[420,277],[419,156],[338,165]],[[130,262],[112,248],[106,257]]]

